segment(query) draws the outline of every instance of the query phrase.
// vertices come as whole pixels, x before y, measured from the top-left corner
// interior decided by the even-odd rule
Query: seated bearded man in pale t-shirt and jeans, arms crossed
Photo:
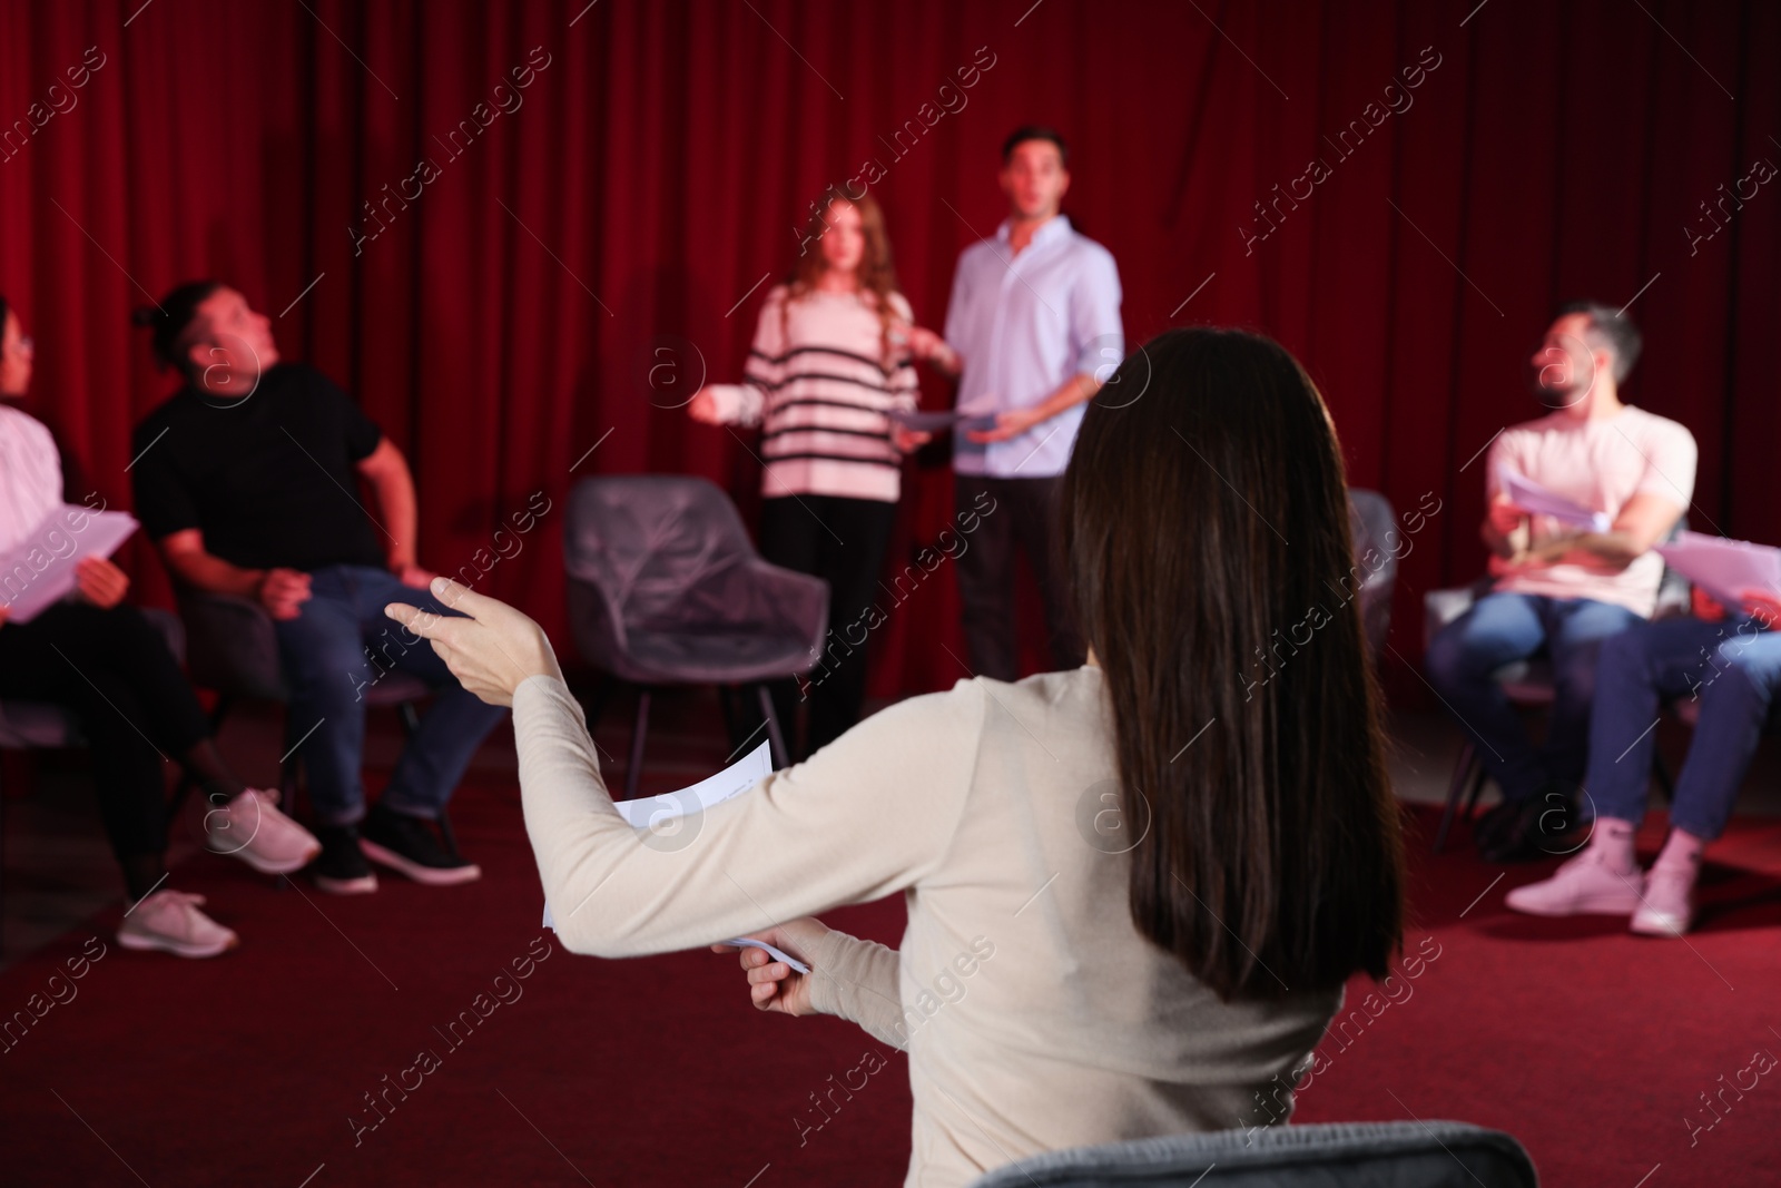
[[[1428,645],[1423,666],[1471,736],[1503,793],[1478,823],[1489,862],[1528,862],[1560,853],[1557,835],[1574,823],[1578,780],[1589,748],[1601,641],[1656,607],[1663,540],[1694,492],[1694,435],[1665,417],[1621,403],[1621,383],[1639,360],[1639,330],[1614,310],[1573,303],[1558,312],[1530,360],[1533,390],[1551,411],[1503,429],[1485,467],[1492,590]],[[1501,488],[1501,472],[1603,513],[1596,533],[1528,515]],[[1492,673],[1546,648],[1553,705],[1546,743],[1535,750],[1519,712]]]

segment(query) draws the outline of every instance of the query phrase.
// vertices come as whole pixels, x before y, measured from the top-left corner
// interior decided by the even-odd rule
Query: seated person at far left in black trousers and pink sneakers
[[[18,313],[0,297],[0,397],[30,388],[36,351]],[[62,465],[48,427],[0,404],[0,554],[68,531]],[[11,622],[11,584],[0,590],[0,698],[73,709],[93,750],[100,818],[123,867],[130,907],[118,926],[128,949],[216,956],[235,932],[210,919],[205,898],[167,885],[171,757],[198,782],[212,809],[205,842],[256,871],[289,875],[321,850],[274,805],[276,793],[248,787],[217,753],[210,720],[180,673],[162,634],[123,600],[130,577],[100,556],[82,559],[75,590],[30,622]]]

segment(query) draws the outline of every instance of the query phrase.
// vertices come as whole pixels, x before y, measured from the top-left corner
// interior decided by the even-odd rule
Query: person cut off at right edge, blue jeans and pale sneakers
[[[1631,915],[1646,937],[1681,937],[1694,926],[1701,851],[1726,832],[1731,803],[1756,753],[1781,688],[1781,598],[1745,590],[1738,614],[1694,591],[1694,614],[1639,623],[1601,645],[1596,714],[1589,727],[1589,775],[1596,805],[1589,846],[1507,903],[1530,915]],[[1658,702],[1699,705],[1688,759],[1676,778],[1671,832],[1651,873],[1639,869],[1633,835],[1646,816],[1656,750]]]

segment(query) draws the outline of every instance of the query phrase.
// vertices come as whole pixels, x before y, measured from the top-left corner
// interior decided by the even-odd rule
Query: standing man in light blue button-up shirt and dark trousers
[[[1067,166],[1051,128],[1017,128],[1003,142],[1008,217],[958,256],[946,338],[910,333],[917,358],[960,374],[955,499],[960,517],[981,524],[958,557],[958,591],[971,664],[997,680],[1019,677],[1017,545],[1038,577],[1054,666],[1083,663],[1056,575],[1053,509],[1083,404],[1126,354],[1113,256],[1058,212]]]

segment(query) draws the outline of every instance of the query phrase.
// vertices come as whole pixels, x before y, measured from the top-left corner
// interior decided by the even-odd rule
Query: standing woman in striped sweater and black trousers
[[[915,358],[947,354],[896,289],[890,239],[871,194],[830,191],[803,249],[768,292],[743,383],[707,385],[687,411],[705,424],[760,424],[760,554],[828,582],[828,647],[810,675],[809,746],[858,721],[866,632],[901,493],[903,454],[928,440],[894,420],[917,399]],[[942,360],[944,362],[944,360]],[[791,682],[775,705],[791,741]]]

